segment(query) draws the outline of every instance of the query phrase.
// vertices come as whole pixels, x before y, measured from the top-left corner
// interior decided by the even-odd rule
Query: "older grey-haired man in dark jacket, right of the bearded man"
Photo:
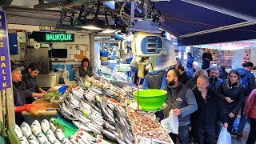
[[[217,94],[209,87],[206,76],[199,76],[197,88],[193,90],[198,104],[198,110],[191,114],[194,125],[192,131],[199,144],[215,142],[215,122],[218,119],[224,127],[227,127],[227,119],[219,106]]]

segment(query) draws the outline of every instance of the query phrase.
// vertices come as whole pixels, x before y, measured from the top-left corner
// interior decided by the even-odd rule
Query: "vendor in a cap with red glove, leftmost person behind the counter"
[[[26,92],[22,90],[22,70],[24,67],[11,66],[11,78],[13,81],[13,92],[14,92],[14,110],[15,110],[15,122],[18,126],[24,122],[22,117],[22,111],[30,112],[30,107],[33,105],[25,105]]]

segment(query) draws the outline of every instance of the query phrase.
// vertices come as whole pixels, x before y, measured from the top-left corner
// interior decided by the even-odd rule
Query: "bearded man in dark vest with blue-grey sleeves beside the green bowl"
[[[178,70],[169,70],[166,81],[168,85],[164,88],[167,91],[167,108],[163,111],[165,118],[169,116],[173,109],[174,115],[178,116],[178,134],[170,133],[170,138],[176,143],[176,138],[180,143],[189,143],[190,114],[198,109],[194,94],[190,88],[178,81]]]

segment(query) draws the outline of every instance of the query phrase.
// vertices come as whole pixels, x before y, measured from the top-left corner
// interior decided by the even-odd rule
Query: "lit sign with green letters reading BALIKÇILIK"
[[[74,34],[46,33],[46,42],[74,42]]]

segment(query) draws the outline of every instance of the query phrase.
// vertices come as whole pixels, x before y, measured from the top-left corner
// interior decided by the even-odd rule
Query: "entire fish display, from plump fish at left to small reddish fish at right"
[[[21,142],[172,143],[154,113],[127,105],[134,102],[135,87],[120,88],[102,78],[75,81],[78,86],[66,90],[62,101],[48,102],[54,107],[44,107],[44,112],[38,109],[36,120],[14,127]],[[39,107],[47,103],[35,102]]]

